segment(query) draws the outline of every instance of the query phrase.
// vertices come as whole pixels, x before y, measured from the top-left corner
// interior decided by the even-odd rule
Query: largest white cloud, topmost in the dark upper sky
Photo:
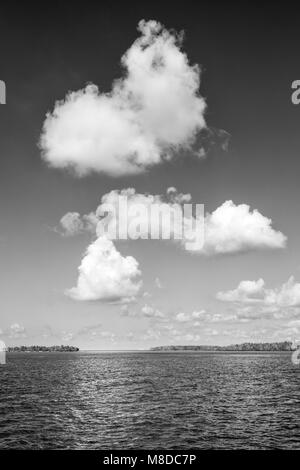
[[[138,30],[110,93],[90,84],[47,114],[40,147],[51,167],[71,167],[78,176],[141,173],[191,149],[205,128],[200,68],[182,52],[182,35],[157,21],[142,20]]]

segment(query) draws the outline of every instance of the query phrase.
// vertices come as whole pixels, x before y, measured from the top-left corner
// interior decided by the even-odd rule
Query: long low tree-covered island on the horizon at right
[[[156,346],[150,351],[294,351],[293,343],[241,343],[229,346]]]

